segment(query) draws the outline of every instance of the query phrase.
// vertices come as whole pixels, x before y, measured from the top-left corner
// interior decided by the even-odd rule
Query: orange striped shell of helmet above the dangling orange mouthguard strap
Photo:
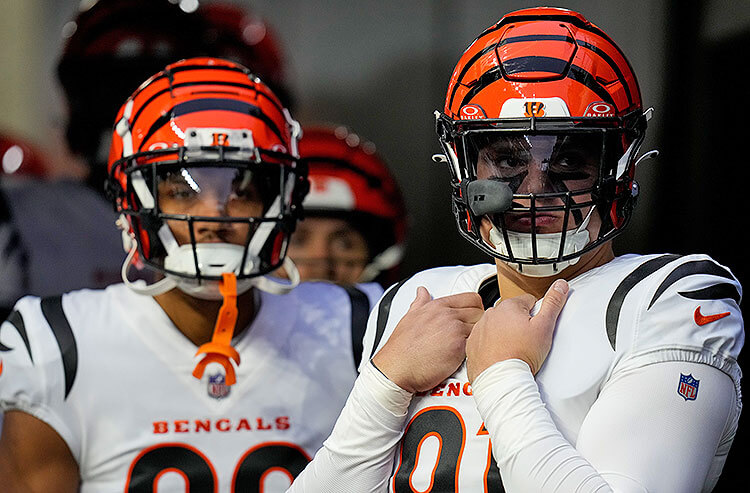
[[[182,147],[185,131],[194,127],[248,129],[258,148],[295,150],[284,109],[271,90],[245,67],[216,58],[167,66],[133,93],[116,121],[110,171],[115,161],[130,154]],[[129,130],[129,138],[123,138],[123,130]],[[117,170],[115,178],[125,186]]]

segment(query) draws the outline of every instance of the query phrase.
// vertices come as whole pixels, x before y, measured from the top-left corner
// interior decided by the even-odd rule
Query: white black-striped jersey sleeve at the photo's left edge
[[[66,406],[77,358],[61,297],[24,297],[0,325],[0,410],[23,411],[50,425],[76,453]]]

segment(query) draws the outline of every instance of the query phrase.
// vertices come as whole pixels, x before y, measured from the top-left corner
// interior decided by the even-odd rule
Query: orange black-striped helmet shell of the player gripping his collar
[[[555,116],[624,116],[642,107],[633,70],[610,37],[577,12],[545,7],[510,13],[479,35],[453,71],[445,114],[492,119],[509,99],[546,98],[565,102],[569,114]]]

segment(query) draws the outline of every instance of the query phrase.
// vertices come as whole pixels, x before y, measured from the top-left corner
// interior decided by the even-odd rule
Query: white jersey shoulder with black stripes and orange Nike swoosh
[[[623,303],[630,327],[617,351],[716,366],[732,376],[744,343],[742,286],[707,255],[651,257],[631,274],[633,295]],[[628,278],[623,280],[627,284]],[[623,283],[620,286],[623,286]]]

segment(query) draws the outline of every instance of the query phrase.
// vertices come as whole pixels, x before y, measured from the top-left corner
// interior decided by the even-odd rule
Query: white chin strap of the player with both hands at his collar
[[[595,208],[596,206],[589,210],[589,213],[578,228],[565,232],[565,247],[563,249],[563,255],[570,255],[579,252],[589,243],[589,231],[586,228]],[[531,233],[519,233],[517,231],[506,231],[506,233],[514,257],[528,259],[534,257]],[[537,233],[537,257],[546,259],[557,258],[560,252],[560,240],[561,233]],[[490,230],[490,241],[492,242],[495,251],[505,256],[510,255],[507,245],[505,244],[503,232],[494,224]],[[506,260],[504,260],[504,262],[524,276],[550,277],[558,274],[566,267],[575,265],[579,260],[580,257],[575,257],[570,260],[563,260],[561,262],[549,264],[520,264]]]

